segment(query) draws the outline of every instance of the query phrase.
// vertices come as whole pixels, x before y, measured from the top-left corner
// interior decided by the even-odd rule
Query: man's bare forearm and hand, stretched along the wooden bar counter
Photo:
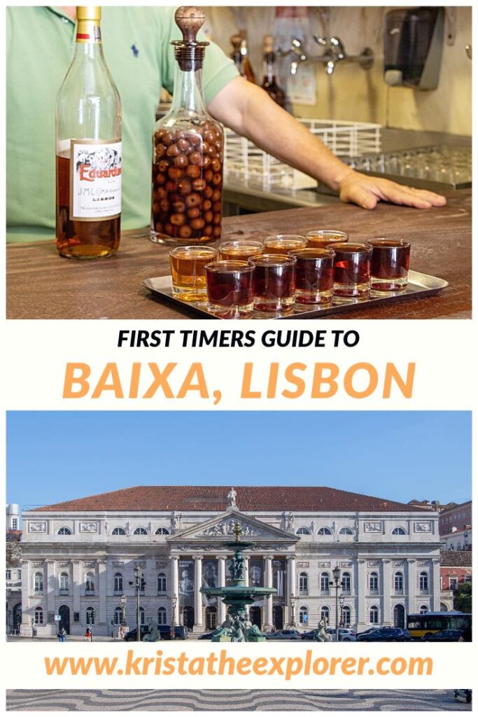
[[[267,153],[337,190],[342,201],[354,202],[363,209],[374,209],[380,200],[418,209],[446,204],[443,196],[432,191],[353,171],[274,103],[267,92],[243,77],[236,77],[223,87],[209,103],[208,110]]]

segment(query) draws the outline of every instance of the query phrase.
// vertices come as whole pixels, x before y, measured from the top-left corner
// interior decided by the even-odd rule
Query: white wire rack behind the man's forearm
[[[381,151],[381,125],[305,118],[299,122],[338,157],[360,157]],[[225,179],[239,179],[262,189],[274,186],[304,189],[317,184],[229,129],[226,129],[224,158]]]

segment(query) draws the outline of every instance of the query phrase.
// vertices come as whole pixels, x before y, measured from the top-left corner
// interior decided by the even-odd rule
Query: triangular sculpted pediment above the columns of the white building
[[[191,541],[211,541],[216,545],[220,545],[224,539],[234,538],[234,526],[239,523],[241,526],[243,540],[253,540],[257,543],[264,541],[278,541],[287,543],[297,543],[299,538],[292,533],[287,533],[280,528],[269,526],[268,523],[246,516],[236,508],[230,508],[226,513],[215,516],[204,523],[196,523],[191,528],[173,533],[171,538],[167,538],[168,543],[185,540]]]

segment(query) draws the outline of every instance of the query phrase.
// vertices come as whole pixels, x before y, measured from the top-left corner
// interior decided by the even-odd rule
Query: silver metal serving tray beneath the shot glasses
[[[210,314],[207,310],[206,302],[188,302],[176,299],[173,296],[173,288],[171,275],[170,276],[158,276],[151,279],[145,279],[141,284],[150,290],[153,295],[163,301],[164,303],[172,304],[181,308],[184,308],[191,313],[195,314],[197,318],[213,318],[217,319],[218,316]],[[293,318],[318,318],[320,316],[330,316],[337,313],[349,313],[356,309],[361,309],[368,306],[383,306],[384,304],[393,304],[397,301],[403,301],[406,299],[418,299],[426,296],[434,296],[439,294],[441,290],[448,286],[448,282],[444,279],[439,279],[436,276],[429,276],[427,274],[421,274],[420,272],[410,271],[408,272],[408,286],[405,291],[391,292],[390,294],[384,295],[383,293],[371,293],[371,297],[367,300],[354,301],[351,300],[337,300],[333,301],[331,305],[323,307],[307,308],[306,305],[295,305],[292,313],[285,315],[271,315],[269,313],[261,313],[254,311],[251,318],[253,319],[293,319]]]

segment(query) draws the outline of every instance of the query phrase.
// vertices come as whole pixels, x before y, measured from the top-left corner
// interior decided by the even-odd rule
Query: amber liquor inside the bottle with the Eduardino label
[[[57,155],[57,250],[63,257],[108,257],[120,244],[120,217],[93,222],[70,219],[70,158]]]

